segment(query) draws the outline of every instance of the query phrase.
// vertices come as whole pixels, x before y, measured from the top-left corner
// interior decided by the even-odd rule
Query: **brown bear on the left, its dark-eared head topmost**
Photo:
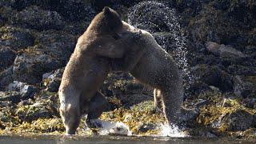
[[[98,88],[111,70],[110,58],[122,58],[125,50],[133,46],[141,34],[137,30],[125,34],[122,30],[119,15],[105,7],[78,38],[58,90],[59,110],[66,134],[75,134],[85,113],[88,114],[86,123],[97,125],[90,120],[102,114],[106,103]]]

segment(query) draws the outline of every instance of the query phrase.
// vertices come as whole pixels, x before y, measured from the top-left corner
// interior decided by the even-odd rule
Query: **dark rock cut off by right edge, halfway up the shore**
[[[256,77],[255,76],[235,76],[234,94],[242,98],[256,97]]]

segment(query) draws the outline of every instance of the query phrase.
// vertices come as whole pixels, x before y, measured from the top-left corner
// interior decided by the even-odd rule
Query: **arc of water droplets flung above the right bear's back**
[[[174,57],[182,71],[185,91],[187,91],[192,83],[192,77],[186,58],[186,37],[178,22],[176,10],[161,2],[140,2],[130,8],[128,23],[149,31],[158,44]],[[185,96],[187,97],[187,94]]]

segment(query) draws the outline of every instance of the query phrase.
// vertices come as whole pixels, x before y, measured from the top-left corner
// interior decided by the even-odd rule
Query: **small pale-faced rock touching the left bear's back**
[[[64,69],[58,69],[42,75],[42,84],[43,86],[46,86],[46,90],[50,92],[58,92],[58,87],[62,81],[63,71]]]

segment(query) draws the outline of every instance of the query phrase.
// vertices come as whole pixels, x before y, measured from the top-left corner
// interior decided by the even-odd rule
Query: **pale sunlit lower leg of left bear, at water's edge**
[[[75,134],[81,114],[79,108],[79,95],[73,91],[59,92],[61,106],[59,108],[62,122],[66,128],[66,134]]]

